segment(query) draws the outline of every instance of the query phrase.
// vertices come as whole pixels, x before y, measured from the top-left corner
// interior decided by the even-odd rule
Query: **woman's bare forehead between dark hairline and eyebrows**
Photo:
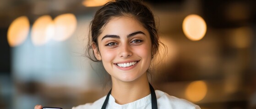
[[[142,24],[138,20],[136,20],[136,18],[131,16],[113,17],[103,27],[100,36],[128,35],[135,31],[142,31],[146,35],[149,35],[147,29],[145,29],[144,26],[142,26]]]

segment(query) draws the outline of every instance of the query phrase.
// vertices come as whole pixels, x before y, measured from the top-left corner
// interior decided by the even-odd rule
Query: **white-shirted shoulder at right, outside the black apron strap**
[[[200,109],[196,104],[193,104],[185,99],[179,99],[169,94],[155,90],[157,95],[159,109]]]

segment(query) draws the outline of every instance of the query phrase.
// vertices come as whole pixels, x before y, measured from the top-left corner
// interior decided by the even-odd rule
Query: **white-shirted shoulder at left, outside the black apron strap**
[[[101,109],[105,99],[106,99],[106,96],[103,96],[102,98],[98,99],[93,103],[78,105],[76,107],[73,107],[72,109]]]

